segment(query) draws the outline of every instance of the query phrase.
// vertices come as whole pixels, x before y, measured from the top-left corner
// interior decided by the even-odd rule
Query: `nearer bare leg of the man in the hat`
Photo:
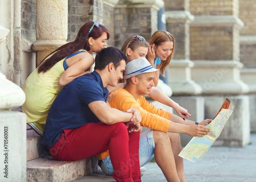
[[[175,165],[175,158],[170,144],[169,137],[164,132],[153,131],[155,141],[155,160],[158,166],[163,171],[163,174],[168,182],[180,181]]]

